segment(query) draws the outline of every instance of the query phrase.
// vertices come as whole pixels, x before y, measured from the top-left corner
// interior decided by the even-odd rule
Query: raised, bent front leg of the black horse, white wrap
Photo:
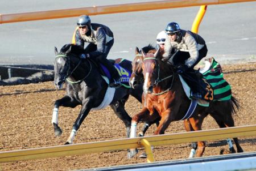
[[[55,136],[60,136],[62,134],[61,128],[58,126],[58,113],[59,106],[75,108],[78,105],[76,100],[72,100],[69,96],[64,96],[61,99],[58,99],[54,103],[53,112],[52,112],[52,124],[54,128]]]

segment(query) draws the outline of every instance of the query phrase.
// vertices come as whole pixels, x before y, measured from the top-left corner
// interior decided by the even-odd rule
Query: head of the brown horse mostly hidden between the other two
[[[155,53],[156,49],[151,45],[148,44],[147,46],[144,46],[142,50],[145,53]],[[133,59],[133,62],[131,62],[132,67],[132,73],[129,79],[129,84],[132,88],[136,88],[139,84],[141,84],[144,80],[143,74],[142,74],[142,63],[143,63],[143,57],[141,50],[139,50],[138,47],[135,48],[135,58]]]

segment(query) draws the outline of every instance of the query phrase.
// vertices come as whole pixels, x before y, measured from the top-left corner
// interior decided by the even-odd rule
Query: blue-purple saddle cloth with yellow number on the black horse
[[[108,79],[112,79],[112,76],[109,72],[109,70],[100,63],[102,71],[104,71],[104,74]],[[120,75],[120,81],[122,86],[129,87],[129,79],[131,77],[131,72],[121,67],[118,63],[114,63],[114,67],[117,70],[118,74]]]

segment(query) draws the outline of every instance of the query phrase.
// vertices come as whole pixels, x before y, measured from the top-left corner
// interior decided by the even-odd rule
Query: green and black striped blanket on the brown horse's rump
[[[232,96],[231,87],[223,78],[220,64],[214,58],[207,59],[211,63],[210,69],[203,73],[203,78],[213,88],[213,101],[230,100]]]

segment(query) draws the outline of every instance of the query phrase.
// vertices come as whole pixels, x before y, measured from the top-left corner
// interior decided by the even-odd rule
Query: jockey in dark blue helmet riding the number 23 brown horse
[[[163,60],[169,60],[177,66],[177,73],[184,75],[183,78],[192,89],[191,97],[201,99],[199,78],[193,67],[207,55],[204,39],[196,33],[180,29],[175,22],[167,25],[166,33],[168,39],[164,45]],[[175,49],[175,53],[171,56],[172,49]]]

